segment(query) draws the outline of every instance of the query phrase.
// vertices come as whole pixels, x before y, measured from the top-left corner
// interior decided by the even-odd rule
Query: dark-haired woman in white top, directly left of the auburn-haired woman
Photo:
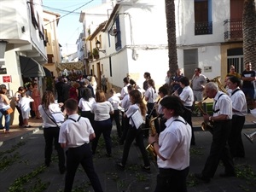
[[[79,100],[79,109],[81,110],[81,116],[88,118],[90,124],[94,127],[94,113],[91,113],[91,107],[95,103],[95,98],[92,96],[91,90],[89,88],[84,88],[81,93],[82,98]]]

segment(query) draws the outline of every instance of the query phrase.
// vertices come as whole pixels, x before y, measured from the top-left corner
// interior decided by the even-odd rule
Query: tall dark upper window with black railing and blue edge
[[[195,35],[212,34],[212,0],[194,0]]]

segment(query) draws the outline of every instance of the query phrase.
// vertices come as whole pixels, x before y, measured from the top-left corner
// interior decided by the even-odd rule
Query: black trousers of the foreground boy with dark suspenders
[[[90,183],[94,191],[102,192],[102,185],[99,177],[97,176],[92,160],[92,154],[90,150],[90,144],[84,143],[77,148],[68,148],[67,150],[67,174],[65,177],[65,192],[71,192],[73,187],[73,179],[77,172],[77,169],[81,164],[86,172],[87,177],[90,179]]]

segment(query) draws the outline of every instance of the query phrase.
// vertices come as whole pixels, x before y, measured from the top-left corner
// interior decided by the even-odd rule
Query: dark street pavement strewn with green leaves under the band
[[[252,133],[255,128],[244,129],[243,132]],[[1,133],[1,137],[3,133]],[[201,172],[209,153],[212,136],[208,131],[195,131],[196,146],[190,149],[190,173]],[[193,177],[188,177],[189,192],[242,192],[256,191],[256,145],[242,137],[246,149],[246,158],[235,160],[238,177],[221,178],[219,173],[224,172],[223,166],[211,183],[196,183]],[[58,171],[57,156],[54,151],[51,165],[44,167],[44,136],[43,130],[24,137],[22,140],[9,140],[0,147],[0,191],[63,191],[64,175]],[[145,140],[145,144],[147,140]],[[115,126],[113,126],[113,156],[105,156],[103,140],[100,141],[98,151],[94,156],[96,172],[102,188],[106,192],[143,192],[154,191],[157,166],[151,162],[151,173],[140,170],[143,163],[139,150],[131,146],[129,159],[125,171],[116,168],[115,162],[122,154],[123,146],[118,145]],[[254,175],[253,175],[254,172]],[[73,184],[73,191],[93,191],[89,179],[82,167],[77,171]]]

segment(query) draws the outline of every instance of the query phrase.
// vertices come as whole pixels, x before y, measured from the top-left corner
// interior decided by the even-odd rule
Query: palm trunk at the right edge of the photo
[[[255,0],[245,0],[242,15],[244,63],[252,62],[256,67],[256,9]]]

